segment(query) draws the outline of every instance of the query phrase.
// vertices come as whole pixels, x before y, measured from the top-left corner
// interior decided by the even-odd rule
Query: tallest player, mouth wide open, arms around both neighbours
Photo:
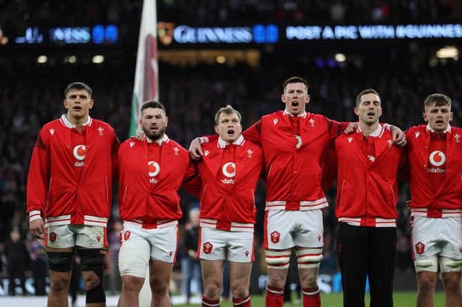
[[[263,116],[242,132],[246,140],[262,146],[264,153],[267,181],[264,248],[268,266],[265,304],[283,305],[289,259],[294,249],[303,306],[319,307],[318,271],[324,244],[321,209],[328,206],[321,188],[321,164],[329,143],[348,123],[305,111],[310,99],[305,79],[291,77],[283,83],[282,90],[285,110]],[[200,143],[204,141],[215,139],[193,140],[189,148],[193,159],[202,157]]]

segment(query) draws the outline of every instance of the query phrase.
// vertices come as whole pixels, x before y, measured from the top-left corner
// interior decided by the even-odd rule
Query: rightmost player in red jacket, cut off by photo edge
[[[461,306],[462,129],[450,126],[451,99],[429,95],[427,125],[406,131],[410,182],[412,256],[417,273],[418,307],[434,306],[438,266],[446,306]]]

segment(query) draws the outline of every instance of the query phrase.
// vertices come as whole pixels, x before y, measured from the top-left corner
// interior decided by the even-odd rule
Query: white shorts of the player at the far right
[[[434,255],[462,259],[461,217],[413,217],[411,234],[414,260]]]

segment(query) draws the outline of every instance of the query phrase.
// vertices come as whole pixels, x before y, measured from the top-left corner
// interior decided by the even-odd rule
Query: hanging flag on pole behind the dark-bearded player
[[[149,100],[159,99],[158,73],[156,1],[144,0],[139,26],[130,136],[134,136],[139,131],[139,110],[142,104]]]

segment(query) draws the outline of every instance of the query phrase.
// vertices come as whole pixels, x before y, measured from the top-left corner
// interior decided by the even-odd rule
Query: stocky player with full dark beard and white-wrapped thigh
[[[119,213],[124,221],[119,307],[139,305],[147,269],[151,306],[170,306],[177,220],[182,217],[177,190],[196,171],[193,164],[189,167],[188,152],[165,134],[168,120],[162,103],[144,103],[139,123],[146,139],[132,137],[119,148]]]

